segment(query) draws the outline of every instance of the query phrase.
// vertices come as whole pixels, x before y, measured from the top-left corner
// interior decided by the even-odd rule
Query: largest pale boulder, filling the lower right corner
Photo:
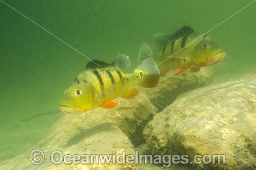
[[[159,105],[161,105],[159,103]],[[218,169],[256,166],[256,72],[183,94],[144,129],[152,154],[224,154]]]

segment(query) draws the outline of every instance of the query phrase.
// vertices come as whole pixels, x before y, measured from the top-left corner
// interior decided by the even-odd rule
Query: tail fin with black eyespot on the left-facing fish
[[[160,71],[152,57],[144,59],[135,69],[135,73],[139,76],[138,85],[142,87],[151,88],[158,84]]]

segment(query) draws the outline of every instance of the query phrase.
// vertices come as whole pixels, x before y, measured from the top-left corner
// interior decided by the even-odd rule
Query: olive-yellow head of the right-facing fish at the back
[[[190,52],[190,59],[197,66],[214,65],[220,62],[226,52],[213,42],[207,35],[199,34],[200,37],[196,40],[193,50]]]

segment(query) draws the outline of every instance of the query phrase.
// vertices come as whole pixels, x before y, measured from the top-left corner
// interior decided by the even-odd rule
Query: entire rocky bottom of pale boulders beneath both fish
[[[188,78],[184,78],[185,76]],[[202,81],[193,81],[192,85],[191,80],[198,77]],[[196,154],[224,154],[227,157],[226,164],[172,163],[167,169],[253,170],[252,167],[256,168],[256,72],[208,85],[212,79],[211,70],[195,73],[192,77],[184,75],[183,79],[176,78],[174,81],[187,89],[185,92],[192,91],[177,98],[172,96],[170,100],[168,96],[175,88],[181,87],[160,82],[151,92],[142,90],[131,100],[118,98],[116,101],[120,101],[120,106],[115,109],[99,108],[83,115],[65,114],[40,141],[58,132],[36,146],[45,153],[42,164],[32,164],[29,151],[5,166],[4,170],[163,170],[166,169],[163,165],[167,164],[119,164],[113,161],[98,164],[94,161],[93,164],[55,165],[50,159],[54,150],[60,150],[63,155],[71,154],[73,158],[76,154],[117,156],[123,154],[123,151],[127,158],[129,154],[135,155],[135,150],[142,155],[161,157],[166,154],[187,154],[189,158]],[[177,82],[174,84],[178,84]],[[153,97],[152,92],[160,94],[163,86],[166,95]],[[166,99],[168,104],[163,105],[164,101],[161,99]],[[56,160],[59,158],[55,155]],[[75,161],[77,160],[73,160]]]

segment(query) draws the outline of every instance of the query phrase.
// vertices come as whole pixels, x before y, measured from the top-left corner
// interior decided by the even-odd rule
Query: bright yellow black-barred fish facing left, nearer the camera
[[[85,71],[65,90],[60,110],[65,113],[84,113],[97,107],[112,109],[119,105],[113,99],[134,98],[139,93],[137,85],[146,88],[157,86],[160,71],[153,58],[143,60],[134,72],[126,73],[130,64],[129,57],[124,54],[118,55],[111,64],[90,61]]]

